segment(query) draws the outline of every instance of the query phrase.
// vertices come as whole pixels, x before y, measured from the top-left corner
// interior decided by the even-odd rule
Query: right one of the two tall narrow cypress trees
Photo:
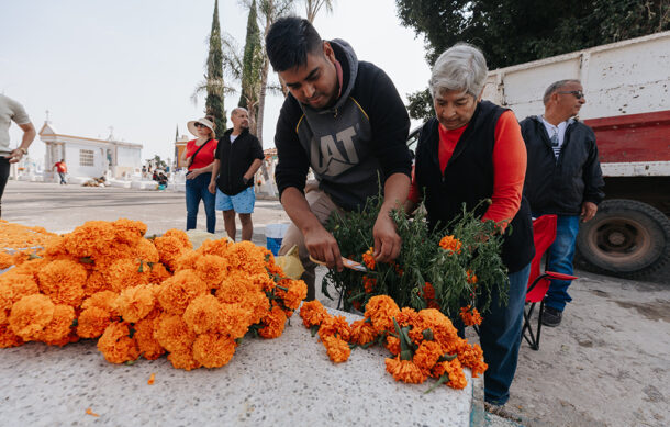
[[[260,71],[264,60],[260,30],[258,29],[257,20],[256,0],[252,0],[247,19],[244,56],[242,58],[242,93],[239,94],[238,105],[249,111],[249,130],[254,135],[257,133],[258,95],[260,94]]]

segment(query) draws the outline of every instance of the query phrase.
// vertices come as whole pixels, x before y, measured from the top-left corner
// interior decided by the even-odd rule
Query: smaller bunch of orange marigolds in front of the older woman
[[[488,368],[481,347],[460,338],[451,321],[435,308],[401,310],[391,297],[377,295],[368,301],[365,318],[351,325],[328,314],[319,301],[302,304],[300,316],[305,327],[319,332],[332,361],[346,361],[355,347],[382,345],[392,355],[386,359],[387,371],[406,383],[437,379],[428,391],[443,383],[464,389],[464,368],[476,378]]]

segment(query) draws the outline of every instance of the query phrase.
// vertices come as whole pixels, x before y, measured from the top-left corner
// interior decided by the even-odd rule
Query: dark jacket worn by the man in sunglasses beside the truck
[[[579,215],[583,202],[600,203],[605,181],[598,159],[595,134],[574,121],[568,125],[558,159],[539,116],[521,122],[528,151],[524,195],[536,215]]]

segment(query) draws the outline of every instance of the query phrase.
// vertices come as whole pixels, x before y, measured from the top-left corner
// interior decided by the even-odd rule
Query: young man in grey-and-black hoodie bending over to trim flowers
[[[309,256],[343,268],[337,241],[323,224],[333,211],[361,209],[377,195],[378,177],[384,201],[373,227],[375,257],[384,262],[400,254],[389,212],[402,206],[410,189],[410,117],[380,68],[359,61],[342,40],[323,41],[304,19],[278,20],[266,36],[266,49],[290,92],[275,134],[277,187],[293,222],[279,254],[298,245],[308,300],[313,300],[315,265]],[[319,190],[305,195],[310,167]]]

